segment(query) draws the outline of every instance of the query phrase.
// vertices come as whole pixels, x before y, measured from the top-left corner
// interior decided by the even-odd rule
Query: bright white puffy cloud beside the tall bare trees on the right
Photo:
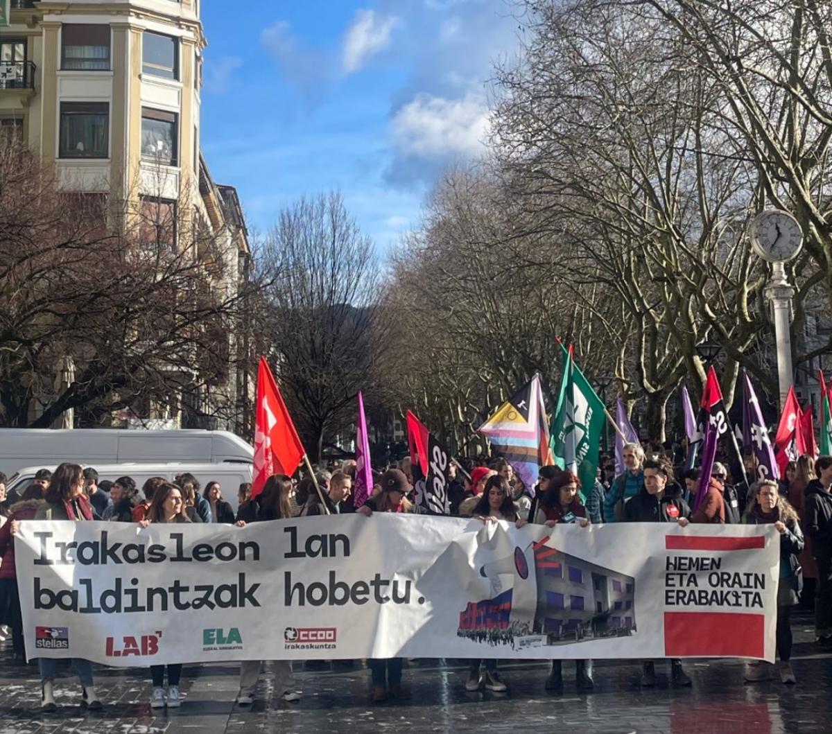
[[[461,99],[419,94],[396,112],[393,136],[404,156],[476,156],[488,133],[488,106],[468,93]]]

